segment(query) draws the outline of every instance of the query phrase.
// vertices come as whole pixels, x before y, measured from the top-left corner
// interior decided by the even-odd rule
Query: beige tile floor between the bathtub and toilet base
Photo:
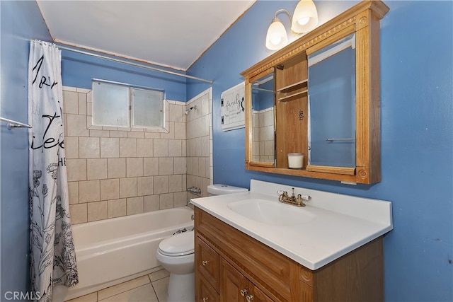
[[[168,271],[160,269],[67,302],[166,302],[169,276]]]

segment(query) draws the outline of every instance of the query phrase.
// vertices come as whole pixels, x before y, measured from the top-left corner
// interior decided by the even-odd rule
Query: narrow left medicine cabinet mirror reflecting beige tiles
[[[252,161],[275,163],[274,74],[251,83]]]

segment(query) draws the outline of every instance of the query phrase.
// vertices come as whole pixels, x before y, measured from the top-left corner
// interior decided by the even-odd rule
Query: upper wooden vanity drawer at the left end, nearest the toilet
[[[219,254],[200,237],[195,236],[195,269],[219,291]]]

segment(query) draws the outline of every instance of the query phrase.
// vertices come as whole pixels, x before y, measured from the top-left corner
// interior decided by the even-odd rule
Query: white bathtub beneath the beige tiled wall
[[[60,302],[143,276],[158,267],[162,239],[193,229],[193,210],[178,207],[72,226],[79,284],[55,286]]]

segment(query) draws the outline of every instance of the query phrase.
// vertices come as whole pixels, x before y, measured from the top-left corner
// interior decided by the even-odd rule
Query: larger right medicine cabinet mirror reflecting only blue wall
[[[308,56],[309,165],[355,167],[355,33]]]

